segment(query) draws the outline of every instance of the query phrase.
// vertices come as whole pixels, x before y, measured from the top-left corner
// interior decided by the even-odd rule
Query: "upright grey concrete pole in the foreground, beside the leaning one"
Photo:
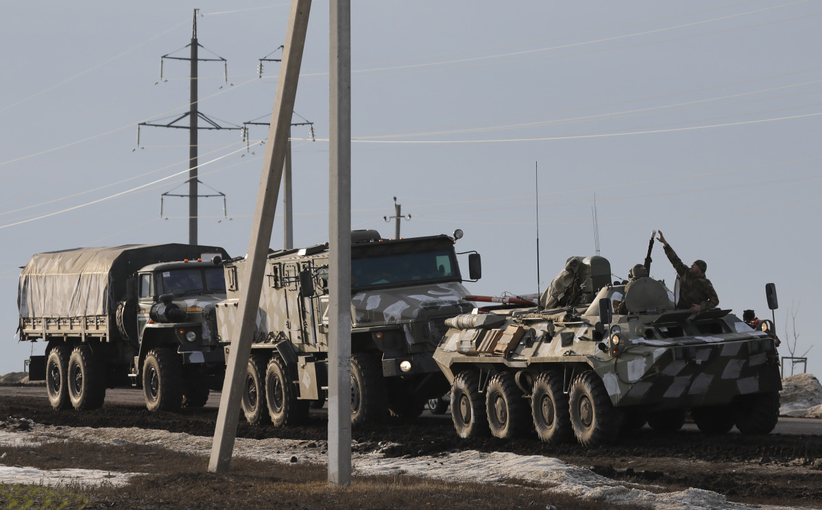
[[[328,484],[351,485],[351,2],[330,8]]]

